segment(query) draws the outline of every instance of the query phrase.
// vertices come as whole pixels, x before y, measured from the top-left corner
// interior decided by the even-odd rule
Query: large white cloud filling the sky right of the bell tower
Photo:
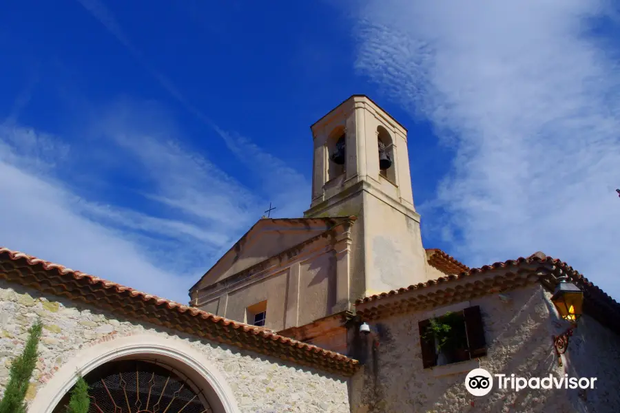
[[[448,213],[433,224],[450,252],[479,266],[541,250],[620,297],[619,50],[592,32],[617,10],[382,0],[353,16],[358,70],[457,149],[422,205],[426,226]]]

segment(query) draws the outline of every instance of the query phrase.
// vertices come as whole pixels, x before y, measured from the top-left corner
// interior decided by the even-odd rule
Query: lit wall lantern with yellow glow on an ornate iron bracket
[[[566,275],[558,278],[559,283],[551,297],[551,302],[557,309],[562,319],[569,321],[571,326],[559,336],[553,336],[553,346],[557,355],[558,363],[562,365],[561,354],[568,349],[568,339],[572,331],[577,327],[577,320],[583,313],[583,291],[575,284],[568,281]]]

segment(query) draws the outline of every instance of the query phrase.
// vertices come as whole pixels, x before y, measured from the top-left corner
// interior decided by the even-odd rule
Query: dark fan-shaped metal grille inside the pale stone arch
[[[195,386],[154,362],[114,361],[87,374],[85,381],[88,413],[211,413]],[[54,413],[64,412],[68,396]]]

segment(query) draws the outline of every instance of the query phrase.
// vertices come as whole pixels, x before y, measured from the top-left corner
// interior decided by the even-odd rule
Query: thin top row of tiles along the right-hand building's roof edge
[[[438,250],[438,251],[441,251],[441,250]],[[357,301],[355,301],[355,304],[364,304],[370,301],[382,299],[384,297],[391,297],[393,295],[406,293],[406,291],[409,291],[409,290],[418,290],[421,288],[434,286],[436,284],[451,282],[455,279],[461,279],[464,277],[475,275],[477,273],[484,273],[486,271],[491,271],[491,270],[495,270],[499,268],[508,268],[510,266],[517,266],[519,264],[531,264],[534,262],[549,263],[549,264],[558,266],[559,268],[561,268],[563,271],[567,273],[568,277],[570,277],[573,281],[577,282],[577,284],[583,286],[584,290],[587,290],[587,293],[591,295],[592,294],[599,295],[602,299],[607,301],[607,304],[610,304],[611,306],[618,306],[618,310],[620,310],[620,304],[618,304],[618,302],[615,299],[613,299],[610,295],[608,295],[603,290],[601,290],[601,288],[599,288],[598,286],[590,282],[586,277],[583,277],[583,275],[581,275],[579,271],[576,271],[574,268],[572,268],[572,266],[569,266],[568,264],[566,264],[566,262],[563,262],[557,258],[549,257],[548,255],[546,255],[545,253],[542,253],[541,251],[538,251],[537,253],[534,253],[527,258],[519,257],[516,260],[506,260],[504,262],[495,262],[493,264],[485,265],[480,268],[470,268],[468,269],[468,271],[462,271],[461,273],[446,275],[446,277],[439,277],[437,279],[429,279],[427,282],[413,284],[409,287],[398,288],[397,290],[391,290],[386,293],[371,295],[369,297],[364,297],[363,299],[358,299]]]

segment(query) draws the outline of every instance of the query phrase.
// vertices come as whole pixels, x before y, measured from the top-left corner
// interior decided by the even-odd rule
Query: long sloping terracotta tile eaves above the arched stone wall
[[[267,328],[225,319],[8,248],[0,247],[0,278],[43,293],[85,301],[112,313],[320,370],[350,376],[358,368],[357,360],[277,335]]]

